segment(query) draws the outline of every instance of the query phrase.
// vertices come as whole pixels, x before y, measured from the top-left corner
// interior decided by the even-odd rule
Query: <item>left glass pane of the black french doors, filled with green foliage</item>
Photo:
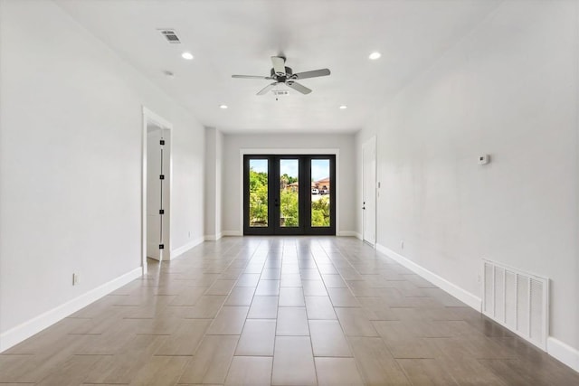
[[[268,159],[249,160],[249,226],[251,228],[267,228],[269,225],[268,166]]]

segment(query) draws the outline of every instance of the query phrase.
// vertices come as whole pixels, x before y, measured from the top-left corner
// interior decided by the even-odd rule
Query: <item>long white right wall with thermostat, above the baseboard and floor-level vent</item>
[[[550,278],[574,355],[578,27],[576,2],[504,2],[356,137],[378,138],[377,242],[476,297],[481,258]]]

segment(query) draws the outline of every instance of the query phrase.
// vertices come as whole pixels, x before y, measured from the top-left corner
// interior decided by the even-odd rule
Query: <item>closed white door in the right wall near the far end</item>
[[[376,137],[362,146],[362,221],[363,238],[376,242]]]

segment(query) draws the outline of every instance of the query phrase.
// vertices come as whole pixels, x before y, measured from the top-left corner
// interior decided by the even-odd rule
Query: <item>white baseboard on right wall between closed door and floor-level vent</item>
[[[402,264],[404,267],[412,270],[415,274],[420,275],[422,278],[430,281],[432,284],[441,287],[442,290],[448,292],[453,297],[456,297],[461,302],[467,304],[468,306],[476,309],[477,311],[482,310],[482,299],[476,297],[470,292],[460,288],[459,286],[451,283],[445,278],[441,278],[437,274],[431,272],[426,268],[422,268],[410,259],[404,258],[402,255],[394,252],[394,250],[384,247],[384,245],[375,245],[377,251],[384,253],[389,258],[394,259],[396,262]]]

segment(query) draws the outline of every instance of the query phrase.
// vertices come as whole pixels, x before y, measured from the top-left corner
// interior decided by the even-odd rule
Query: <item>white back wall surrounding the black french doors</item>
[[[223,232],[242,234],[242,149],[338,149],[337,234],[356,229],[354,135],[255,134],[223,137]]]

